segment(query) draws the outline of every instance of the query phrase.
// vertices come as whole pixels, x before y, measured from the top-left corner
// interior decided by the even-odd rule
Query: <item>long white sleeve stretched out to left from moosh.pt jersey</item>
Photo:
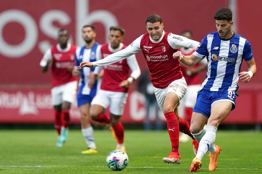
[[[120,50],[118,52],[115,52],[107,57],[105,57],[104,59],[101,59],[99,61],[95,61],[92,62],[93,66],[104,66],[104,65],[109,65],[109,64],[114,64],[115,62],[121,61],[139,51],[141,51],[140,48],[140,42],[142,39],[141,35],[140,37],[138,37],[136,40],[134,40],[128,47],[126,47],[123,50]]]

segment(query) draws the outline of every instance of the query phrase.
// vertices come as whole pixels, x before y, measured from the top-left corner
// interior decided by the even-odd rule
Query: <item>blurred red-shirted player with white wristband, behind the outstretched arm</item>
[[[102,59],[126,46],[122,43],[125,30],[118,26],[110,27],[109,44],[103,44],[100,52]],[[100,68],[101,69],[101,68]],[[131,74],[129,76],[129,71]],[[128,97],[128,87],[133,80],[137,79],[141,72],[137,64],[135,55],[103,67],[104,75],[98,90],[91,102],[90,116],[92,119],[111,124],[114,129],[117,146],[116,149],[125,151],[124,127],[120,122],[123,115],[126,99]],[[95,69],[94,74],[98,75],[99,69]],[[107,122],[103,111],[110,105],[110,122]]]

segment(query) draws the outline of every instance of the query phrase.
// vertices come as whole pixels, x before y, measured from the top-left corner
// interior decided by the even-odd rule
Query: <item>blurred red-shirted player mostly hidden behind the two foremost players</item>
[[[193,37],[192,32],[189,30],[182,31],[181,35],[188,39],[192,39]],[[178,51],[181,51],[183,55],[191,55],[195,50],[192,48],[182,47],[178,48]],[[207,61],[206,59],[203,59],[202,61],[191,67],[184,65],[180,61],[180,65],[183,76],[185,77],[185,80],[187,82],[187,92],[185,93],[182,99],[183,101],[181,102],[184,106],[184,119],[190,125],[192,111],[197,99],[197,91],[201,86],[201,79],[199,77],[199,73],[203,70],[207,70]],[[180,108],[181,107],[179,106],[179,109]],[[179,142],[187,142],[188,140],[189,137],[185,134],[182,134],[179,137]]]

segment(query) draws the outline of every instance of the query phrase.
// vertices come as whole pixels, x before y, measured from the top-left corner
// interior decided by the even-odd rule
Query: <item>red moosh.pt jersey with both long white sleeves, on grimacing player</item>
[[[196,49],[199,44],[197,41],[164,31],[161,38],[154,41],[147,33],[138,37],[125,49],[92,63],[94,66],[104,66],[142,51],[151,72],[153,86],[163,89],[172,81],[183,77],[179,60],[173,58],[173,53],[181,47]]]

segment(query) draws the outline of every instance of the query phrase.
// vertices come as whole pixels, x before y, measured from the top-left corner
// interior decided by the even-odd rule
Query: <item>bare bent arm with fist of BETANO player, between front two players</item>
[[[190,56],[185,56],[182,54],[181,51],[177,51],[173,54],[173,58],[174,59],[180,59],[180,61],[187,65],[187,66],[193,66],[195,64],[197,64],[198,62],[200,62],[202,60],[202,58],[197,57],[195,55],[190,55]]]

